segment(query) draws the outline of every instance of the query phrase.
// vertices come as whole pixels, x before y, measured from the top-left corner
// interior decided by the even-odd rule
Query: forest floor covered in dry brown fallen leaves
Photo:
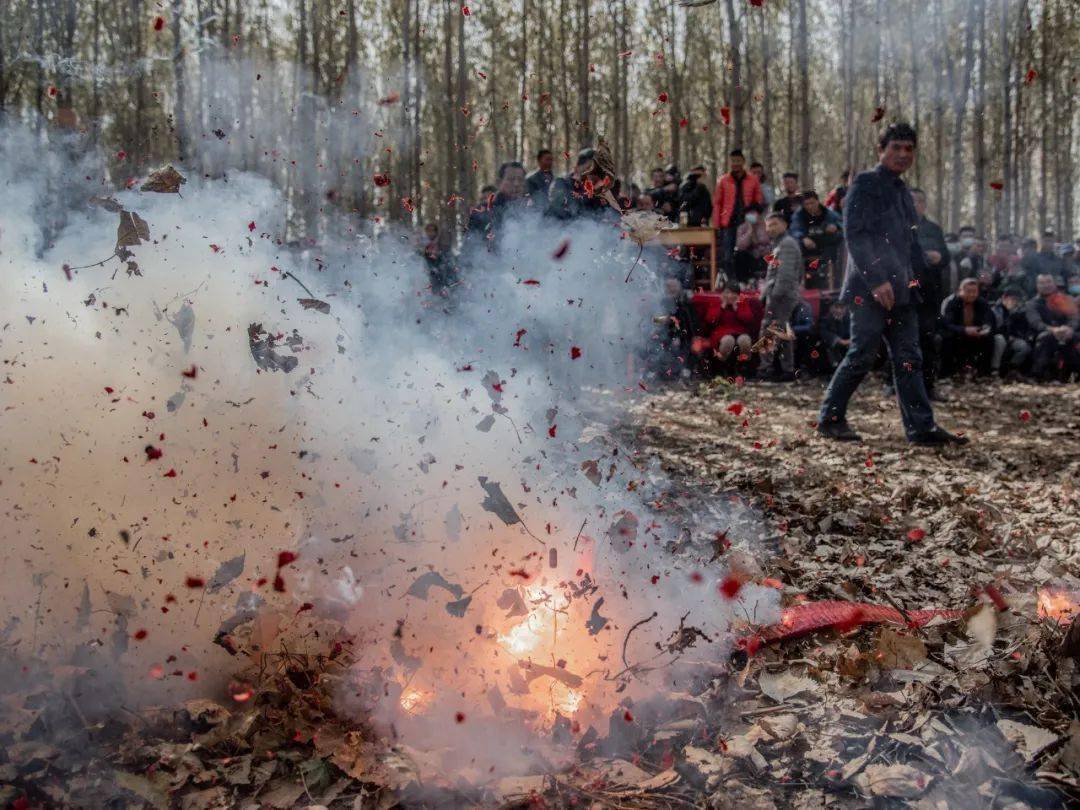
[[[46,686],[71,694],[64,680],[80,673],[68,667],[51,686],[0,696],[11,735],[0,806],[1080,801],[1080,624],[1070,630],[1068,612],[1080,598],[1080,388],[950,393],[939,419],[971,444],[941,450],[909,447],[895,403],[870,382],[851,413],[861,444],[814,434],[814,380],[676,387],[635,404],[624,446],[659,459],[680,509],[730,516],[719,537],[670,553],[718,571],[739,553],[744,576],[778,589],[787,609],[862,603],[909,621],[856,612],[779,640],[747,626],[750,649],[633,723],[620,714],[591,729],[569,770],[484,785],[426,779],[422,753],[335,715],[334,653],[273,659],[243,706],[189,701],[137,720],[87,721],[72,700],[42,700]],[[962,615],[914,620],[929,608]]]

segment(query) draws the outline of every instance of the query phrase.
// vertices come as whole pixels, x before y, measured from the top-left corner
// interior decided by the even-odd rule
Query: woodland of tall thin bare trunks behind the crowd
[[[948,229],[1074,234],[1080,3],[464,2],[0,0],[0,117],[118,181],[260,172],[282,235],[319,240],[334,214],[460,225],[500,162],[564,171],[597,133],[643,187],[740,146],[824,191],[883,110],[918,125],[910,180]]]

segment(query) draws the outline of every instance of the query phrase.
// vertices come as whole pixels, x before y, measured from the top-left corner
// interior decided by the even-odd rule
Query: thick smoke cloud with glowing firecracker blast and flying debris
[[[406,233],[282,244],[258,176],[113,193],[36,148],[0,146],[13,658],[136,704],[337,642],[343,711],[487,772],[677,689],[680,626],[719,659],[733,617],[777,618],[669,553],[667,482],[613,438],[661,308],[617,226],[526,211],[443,298]],[[112,254],[117,206],[149,239],[65,270]]]

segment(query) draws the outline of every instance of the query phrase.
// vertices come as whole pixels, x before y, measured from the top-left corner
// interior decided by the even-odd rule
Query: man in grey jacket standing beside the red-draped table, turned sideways
[[[784,215],[773,212],[765,220],[765,229],[772,240],[772,254],[766,260],[765,284],[761,287],[761,301],[765,305],[765,320],[761,323],[761,334],[773,326],[774,330],[789,333],[788,324],[792,312],[802,293],[802,253],[796,242],[787,233],[787,220]],[[777,348],[780,348],[780,374],[772,370],[772,359]],[[762,352],[761,362],[765,365],[764,378],[773,381],[791,381],[795,379],[795,340],[777,337],[771,348]]]

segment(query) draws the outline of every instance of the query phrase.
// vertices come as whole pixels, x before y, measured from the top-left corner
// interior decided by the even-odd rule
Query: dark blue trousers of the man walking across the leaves
[[[852,307],[851,346],[828,383],[819,421],[824,426],[847,420],[848,402],[874,367],[882,336],[892,355],[904,432],[909,440],[930,433],[934,430],[934,416],[922,380],[919,314],[912,303],[896,305],[889,311],[877,301]]]

